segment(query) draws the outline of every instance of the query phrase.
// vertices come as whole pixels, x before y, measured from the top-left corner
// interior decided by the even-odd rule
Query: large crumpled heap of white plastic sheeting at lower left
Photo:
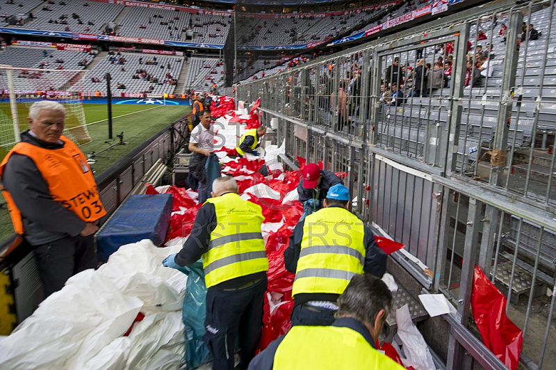
[[[187,277],[161,261],[179,248],[140,241],[74,275],[0,337],[0,369],[177,369]],[[123,337],[139,312],[145,318]]]

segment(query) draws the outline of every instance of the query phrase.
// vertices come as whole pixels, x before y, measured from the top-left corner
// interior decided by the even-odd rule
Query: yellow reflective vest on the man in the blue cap
[[[306,216],[292,295],[341,294],[363,273],[363,222],[347,209],[328,207]]]

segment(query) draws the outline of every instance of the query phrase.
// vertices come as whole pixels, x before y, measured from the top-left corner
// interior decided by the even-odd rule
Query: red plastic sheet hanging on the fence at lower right
[[[475,265],[471,308],[482,341],[511,370],[516,370],[523,345],[523,331],[506,312],[506,297]]]

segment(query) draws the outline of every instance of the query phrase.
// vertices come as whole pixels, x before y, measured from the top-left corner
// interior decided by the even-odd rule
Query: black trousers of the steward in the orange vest
[[[97,253],[92,235],[67,236],[35,249],[44,297],[59,291],[67,279],[88,268],[97,267]]]

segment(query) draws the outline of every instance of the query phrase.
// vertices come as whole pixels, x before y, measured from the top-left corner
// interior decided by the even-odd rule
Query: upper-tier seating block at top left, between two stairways
[[[102,26],[113,22],[124,9],[123,5],[85,0],[53,2],[44,1],[44,6],[33,13],[36,19],[22,27],[59,32],[101,33]]]

